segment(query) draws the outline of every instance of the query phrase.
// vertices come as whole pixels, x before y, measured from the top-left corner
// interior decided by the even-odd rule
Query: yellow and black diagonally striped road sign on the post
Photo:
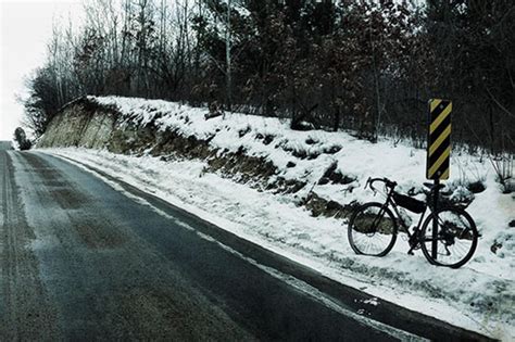
[[[429,100],[429,135],[427,141],[427,179],[449,179],[451,157],[450,100]]]

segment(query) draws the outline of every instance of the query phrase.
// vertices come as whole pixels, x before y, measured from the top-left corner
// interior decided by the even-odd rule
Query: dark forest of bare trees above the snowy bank
[[[454,144],[515,151],[513,0],[89,0],[84,17],[54,23],[27,77],[35,136],[71,100],[114,94],[423,147],[443,98]]]

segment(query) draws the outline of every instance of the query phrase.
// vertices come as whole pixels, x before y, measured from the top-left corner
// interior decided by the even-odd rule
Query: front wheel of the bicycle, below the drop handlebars
[[[384,204],[366,203],[349,220],[348,236],[356,254],[384,256],[395,243],[397,221]]]

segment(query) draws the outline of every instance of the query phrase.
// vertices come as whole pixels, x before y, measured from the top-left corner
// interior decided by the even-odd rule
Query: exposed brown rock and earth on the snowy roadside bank
[[[188,119],[189,121],[189,119]],[[250,132],[250,127],[238,131],[240,137]],[[141,127],[127,117],[123,117],[115,107],[103,106],[87,98],[70,103],[50,123],[47,134],[39,141],[39,147],[85,147],[92,149],[106,148],[109,151],[122,154],[143,155],[150,153],[161,161],[203,160],[208,163],[204,172],[217,173],[222,177],[247,183],[260,191],[268,190],[274,193],[294,194],[305,188],[305,181],[277,177],[277,167],[265,157],[247,155],[243,147],[237,151],[219,150],[210,145],[215,137],[213,132],[208,138],[196,136],[186,137],[177,129],[160,130],[154,122]],[[274,141],[273,135],[256,135],[264,144]],[[315,140],[312,141],[316,143]],[[304,149],[289,147],[287,140],[277,147],[291,152],[300,159],[315,159],[318,153],[309,153]],[[288,162],[287,167],[296,163]],[[337,172],[334,163],[326,170],[319,183],[348,183],[352,178]],[[314,216],[325,215],[343,217],[351,212],[351,206],[336,201],[319,198],[314,192],[299,202],[305,205]]]

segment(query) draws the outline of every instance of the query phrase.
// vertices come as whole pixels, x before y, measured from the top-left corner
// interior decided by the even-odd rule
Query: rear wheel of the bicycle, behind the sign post
[[[443,207],[425,220],[420,230],[420,246],[429,263],[459,268],[473,256],[478,237],[476,224],[467,212],[459,207]]]

